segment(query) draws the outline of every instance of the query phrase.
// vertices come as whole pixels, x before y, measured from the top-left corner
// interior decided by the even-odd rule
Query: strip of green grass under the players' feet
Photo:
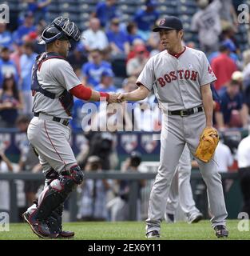
[[[238,230],[239,220],[228,220],[229,236],[224,239],[250,240],[250,231]],[[249,229],[249,226],[248,226]],[[145,222],[69,222],[64,230],[75,231],[75,240],[144,240]],[[26,223],[11,224],[10,231],[0,232],[0,240],[41,240]],[[208,220],[196,224],[177,222],[161,224],[161,240],[218,239]]]

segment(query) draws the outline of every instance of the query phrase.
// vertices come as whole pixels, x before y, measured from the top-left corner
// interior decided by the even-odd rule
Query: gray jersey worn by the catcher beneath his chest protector
[[[34,112],[42,112],[58,118],[70,118],[58,100],[58,96],[65,89],[70,90],[81,84],[69,62],[59,58],[42,62],[41,69],[38,69],[38,82],[42,85],[42,89],[56,94],[56,98],[51,99],[37,92],[34,96]]]

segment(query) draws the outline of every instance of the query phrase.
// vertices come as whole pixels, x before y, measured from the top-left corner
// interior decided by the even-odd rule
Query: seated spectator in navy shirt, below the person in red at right
[[[240,83],[232,80],[220,94],[220,111],[216,112],[216,123],[218,129],[225,127],[246,126],[248,119],[243,111],[243,97],[240,93]],[[235,111],[237,110],[237,111]]]

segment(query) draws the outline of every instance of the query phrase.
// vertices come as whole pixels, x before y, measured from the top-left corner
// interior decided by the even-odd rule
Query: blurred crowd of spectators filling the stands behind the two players
[[[16,30],[10,31],[6,24],[0,24],[1,127],[13,127],[18,114],[32,116],[30,72],[36,56],[44,50],[37,42],[50,22],[46,17],[51,1],[26,2],[27,10],[20,14]],[[105,92],[136,88],[132,84],[147,60],[162,50],[158,34],[151,32],[162,18],[157,5],[157,0],[145,0],[145,5],[138,6],[131,14],[131,21],[121,22],[117,0],[97,2],[96,10],[89,16],[89,27],[82,31],[81,42],[72,45],[68,57],[82,83]],[[250,106],[250,50],[240,52],[236,38],[240,27],[237,10],[232,1],[224,0],[197,0],[196,5],[198,9],[189,26],[198,34],[199,44],[185,39],[183,43],[203,50],[216,74],[215,87],[221,102],[215,111],[215,124],[220,130],[246,127]],[[77,99],[76,102],[72,127],[82,130],[84,102]],[[141,130],[150,128],[153,130],[145,125]]]

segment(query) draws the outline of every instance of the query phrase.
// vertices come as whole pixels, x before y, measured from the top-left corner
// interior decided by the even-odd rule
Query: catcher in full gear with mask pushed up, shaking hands
[[[81,33],[69,18],[58,17],[42,32],[46,52],[38,55],[32,70],[34,118],[28,127],[30,144],[39,155],[46,176],[38,202],[23,218],[40,238],[73,237],[62,230],[63,204],[84,179],[84,173],[69,145],[69,119],[73,96],[87,101],[106,98],[115,102],[115,94],[97,92],[81,84],[66,61],[70,40],[78,42]]]

